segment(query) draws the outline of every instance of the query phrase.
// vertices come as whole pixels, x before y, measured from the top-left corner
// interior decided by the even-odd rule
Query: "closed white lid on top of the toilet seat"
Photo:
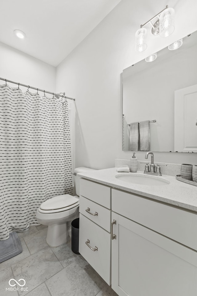
[[[62,209],[62,208],[70,207],[71,205],[76,204],[78,201],[79,200],[76,197],[70,194],[58,195],[44,201],[40,205],[40,209],[45,211]]]

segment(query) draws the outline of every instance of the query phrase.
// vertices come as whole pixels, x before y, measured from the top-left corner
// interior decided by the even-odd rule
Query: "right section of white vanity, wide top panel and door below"
[[[111,198],[112,289],[120,296],[196,296],[197,215],[116,189]]]

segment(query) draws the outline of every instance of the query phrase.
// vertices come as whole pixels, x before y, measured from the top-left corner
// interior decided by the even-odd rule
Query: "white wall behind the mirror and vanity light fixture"
[[[167,38],[148,35],[147,50],[136,53],[135,31],[167,4],[175,8],[174,33]],[[113,167],[115,158],[131,157],[132,152],[122,151],[121,73],[196,31],[196,10],[197,1],[122,0],[59,64],[56,91],[76,98],[76,167]],[[144,160],[145,154],[138,152],[137,156]],[[197,163],[197,154],[159,152],[155,161]]]

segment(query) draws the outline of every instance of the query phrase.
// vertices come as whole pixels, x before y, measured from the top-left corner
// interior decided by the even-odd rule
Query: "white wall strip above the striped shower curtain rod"
[[[55,92],[55,73],[55,67],[0,43],[0,77]],[[0,84],[4,83],[0,80]],[[17,87],[16,84],[8,84]],[[35,92],[33,89],[30,91]]]

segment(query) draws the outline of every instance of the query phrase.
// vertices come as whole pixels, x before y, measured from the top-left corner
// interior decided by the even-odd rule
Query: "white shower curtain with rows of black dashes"
[[[0,85],[0,240],[36,225],[39,205],[72,194],[68,107]]]

